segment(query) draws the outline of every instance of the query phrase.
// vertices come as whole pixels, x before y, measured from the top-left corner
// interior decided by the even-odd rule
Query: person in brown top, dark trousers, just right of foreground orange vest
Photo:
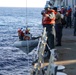
[[[53,8],[56,12],[56,22],[55,22],[55,30],[56,30],[56,46],[61,46],[61,39],[62,39],[62,28],[63,25],[61,23],[61,10],[57,10],[57,7]]]

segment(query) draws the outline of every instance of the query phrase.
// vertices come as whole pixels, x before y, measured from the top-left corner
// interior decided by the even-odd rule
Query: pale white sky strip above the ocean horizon
[[[0,7],[44,7],[46,0],[0,0]]]

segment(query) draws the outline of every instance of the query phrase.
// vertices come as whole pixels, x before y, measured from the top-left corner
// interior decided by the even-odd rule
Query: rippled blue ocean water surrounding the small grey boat
[[[33,36],[42,33],[42,8],[0,7],[0,75],[29,75],[33,54],[13,47],[18,28],[28,28]],[[36,48],[35,48],[36,49]]]

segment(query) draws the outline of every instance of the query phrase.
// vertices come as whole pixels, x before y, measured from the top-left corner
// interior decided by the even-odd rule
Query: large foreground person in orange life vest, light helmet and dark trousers
[[[43,27],[46,27],[47,32],[47,44],[50,47],[50,49],[54,48],[54,36],[55,36],[55,11],[52,9],[52,7],[49,4],[45,5],[45,10],[41,12],[42,14],[42,25]],[[45,50],[48,50],[48,47],[46,46]],[[49,50],[48,50],[49,51]]]

